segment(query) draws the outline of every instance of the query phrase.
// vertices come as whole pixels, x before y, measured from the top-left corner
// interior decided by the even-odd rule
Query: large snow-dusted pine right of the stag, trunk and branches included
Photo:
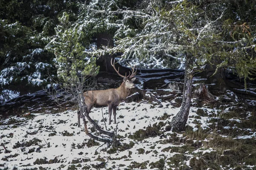
[[[230,3],[223,4],[186,0],[144,0],[141,3],[142,8],[112,11],[121,13],[125,18],[120,22],[122,26],[115,32],[116,46],[94,51],[94,55],[118,51],[122,52],[123,57],[154,57],[157,53],[184,57],[186,62],[183,102],[180,112],[171,122],[173,130],[183,130],[189,114],[192,77],[196,71],[203,70],[206,62],[217,65],[216,71],[234,65],[234,71],[245,80],[255,73],[255,57],[250,56],[254,53],[255,38],[252,27],[255,27],[255,24],[242,21],[238,25],[234,21],[229,22],[229,14],[234,12],[234,6],[230,5],[234,4],[231,3],[233,1],[237,2],[230,0]],[[237,6],[241,7],[242,3],[239,1]],[[247,9],[254,7],[255,3],[247,4]],[[235,9],[246,16],[246,10]],[[137,22],[140,29],[127,22],[131,18]],[[224,36],[227,33],[237,39],[227,40],[230,36]]]

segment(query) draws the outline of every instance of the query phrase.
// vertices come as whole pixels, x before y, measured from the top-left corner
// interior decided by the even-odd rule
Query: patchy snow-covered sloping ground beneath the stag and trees
[[[168,122],[177,114],[180,108],[175,108],[169,102],[162,102],[163,107],[140,103],[121,103],[117,110],[117,125],[105,125],[108,122],[108,108],[93,108],[90,116],[107,130],[117,128],[121,142],[120,147],[109,147],[102,142],[94,142],[83,128],[77,127],[76,111],[62,113],[31,113],[26,116],[13,116],[0,121],[0,168],[2,169],[175,169],[190,168],[191,160],[201,160],[205,154],[215,153],[215,148],[201,146],[188,147],[189,139],[184,132],[173,133],[166,130]],[[209,129],[209,115],[218,119],[217,109],[201,108],[207,115],[199,116],[198,108],[192,107],[187,125],[191,133],[201,129]],[[248,112],[247,115],[250,116]],[[113,120],[113,118],[112,118]],[[239,122],[239,119],[229,119]],[[82,122],[82,121],[81,121]],[[159,126],[158,126],[159,125]],[[92,126],[88,126],[93,131]],[[148,128],[153,127],[153,128]],[[156,128],[159,128],[158,130]],[[236,128],[225,126],[224,129]],[[140,130],[142,129],[142,130]],[[160,134],[147,133],[149,130]],[[256,137],[255,129],[248,130],[244,138]],[[148,136],[145,136],[148,135]],[[133,136],[132,136],[133,135]],[[226,137],[226,136],[224,136]],[[243,135],[237,136],[243,138]],[[199,142],[209,142],[208,139]],[[234,139],[235,140],[235,139]],[[183,142],[181,142],[183,141]],[[192,140],[192,145],[196,142]],[[194,143],[194,144],[193,144]],[[185,148],[185,150],[184,150]],[[182,153],[180,153],[180,150]],[[180,157],[184,160],[179,160]],[[182,157],[183,156],[183,157]],[[199,156],[199,157],[198,157]],[[177,160],[176,160],[177,158]],[[193,159],[195,158],[195,159]],[[182,163],[183,162],[183,163]],[[192,163],[194,164],[194,163]],[[173,167],[174,166],[174,167]],[[245,169],[255,168],[253,165]],[[223,167],[220,169],[233,169]],[[185,169],[185,167],[184,167]]]

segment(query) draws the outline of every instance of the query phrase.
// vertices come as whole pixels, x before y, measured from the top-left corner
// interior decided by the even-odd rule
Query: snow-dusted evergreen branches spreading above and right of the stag
[[[246,79],[253,79],[256,73],[255,10],[253,0],[143,0],[133,9],[95,9],[94,14],[118,16],[104,21],[105,26],[116,29],[116,46],[91,55],[121,52],[128,59],[160,55],[176,62],[190,56],[194,61],[191,70],[201,70],[206,63],[216,65],[216,72],[228,68],[243,77],[246,88]]]

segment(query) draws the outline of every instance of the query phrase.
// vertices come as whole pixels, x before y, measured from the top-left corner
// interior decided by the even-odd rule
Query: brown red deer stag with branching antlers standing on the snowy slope
[[[90,110],[93,106],[108,106],[108,113],[109,113],[109,125],[111,125],[111,113],[113,111],[114,115],[114,124],[116,124],[116,108],[119,105],[120,102],[124,101],[126,97],[128,96],[130,89],[134,88],[134,80],[136,79],[135,74],[137,71],[134,72],[134,67],[131,67],[132,73],[128,76],[123,76],[119,73],[119,68],[116,70],[115,68],[115,60],[112,64],[112,59],[111,59],[111,65],[115,69],[116,73],[120,76],[123,77],[123,82],[118,88],[111,88],[107,90],[100,90],[100,91],[87,91],[84,93],[84,101],[87,106],[87,112],[90,113]],[[80,116],[81,113],[78,111],[78,126],[80,126]]]

